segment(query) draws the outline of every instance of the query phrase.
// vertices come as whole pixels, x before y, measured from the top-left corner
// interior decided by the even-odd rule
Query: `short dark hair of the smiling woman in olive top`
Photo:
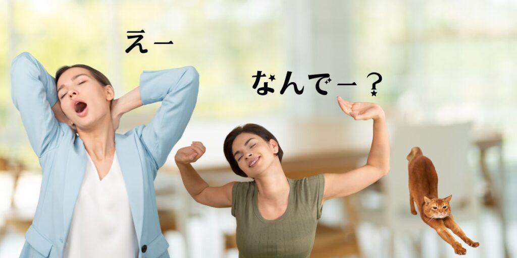
[[[255,134],[257,136],[260,136],[262,139],[264,139],[267,142],[269,142],[270,139],[273,139],[278,143],[278,140],[273,134],[271,134],[269,131],[267,131],[266,128],[264,128],[258,124],[252,124],[252,123],[248,123],[243,126],[239,125],[239,126],[235,127],[232,130],[232,132],[230,132],[226,136],[226,139],[224,139],[224,143],[223,143],[224,156],[226,157],[226,160],[228,160],[228,163],[230,163],[230,167],[232,168],[234,173],[236,173],[237,175],[240,175],[244,178],[247,178],[248,175],[246,175],[246,173],[239,168],[239,165],[237,164],[237,160],[235,160],[235,157],[233,156],[233,153],[232,153],[233,141],[241,133]],[[284,152],[282,151],[282,148],[280,148],[280,143],[278,143],[278,153],[276,153],[275,155],[277,155],[278,158],[280,159],[280,162],[282,162],[282,156],[284,155]]]

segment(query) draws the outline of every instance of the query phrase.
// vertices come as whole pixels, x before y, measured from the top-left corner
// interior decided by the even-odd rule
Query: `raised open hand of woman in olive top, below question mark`
[[[346,115],[355,120],[377,120],[385,118],[384,110],[378,104],[371,102],[350,102],[338,96],[338,104]]]

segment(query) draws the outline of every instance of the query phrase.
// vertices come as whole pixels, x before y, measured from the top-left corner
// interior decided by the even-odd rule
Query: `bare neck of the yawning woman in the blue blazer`
[[[115,153],[115,130],[111,116],[104,116],[91,128],[77,128],[90,157],[103,160]]]

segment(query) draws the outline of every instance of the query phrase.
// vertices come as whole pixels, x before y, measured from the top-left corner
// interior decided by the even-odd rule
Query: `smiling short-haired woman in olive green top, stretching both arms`
[[[340,97],[338,104],[355,120],[373,119],[367,163],[347,173],[286,178],[277,139],[256,124],[234,128],[223,144],[232,170],[254,181],[210,187],[191,166],[205,153],[203,144],[194,141],[176,153],[183,183],[197,202],[232,207],[239,257],[309,257],[323,202],[351,195],[388,173],[389,141],[383,109],[374,103],[354,103]]]

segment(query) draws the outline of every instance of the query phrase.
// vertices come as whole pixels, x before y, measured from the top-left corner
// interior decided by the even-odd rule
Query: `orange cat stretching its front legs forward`
[[[438,175],[431,159],[424,156],[418,147],[413,147],[406,158],[409,160],[409,207],[411,213],[417,215],[414,206],[414,202],[416,202],[420,218],[436,230],[438,235],[454,248],[456,254],[466,254],[467,250],[454,239],[446,227],[467,245],[478,247],[479,243],[468,238],[459,225],[454,222],[449,205],[452,195],[443,199],[438,198]]]

